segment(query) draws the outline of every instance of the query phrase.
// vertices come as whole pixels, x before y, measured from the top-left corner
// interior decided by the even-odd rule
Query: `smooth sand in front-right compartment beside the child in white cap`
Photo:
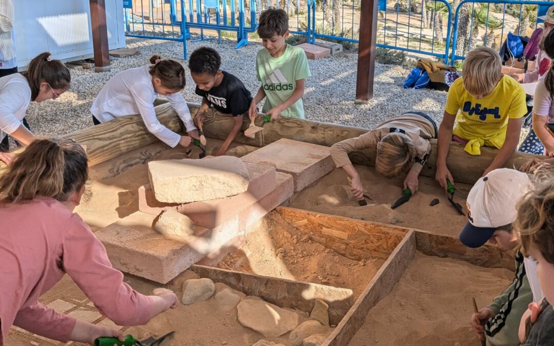
[[[400,281],[373,307],[350,346],[478,345],[469,321],[471,297],[486,306],[514,272],[416,252]]]

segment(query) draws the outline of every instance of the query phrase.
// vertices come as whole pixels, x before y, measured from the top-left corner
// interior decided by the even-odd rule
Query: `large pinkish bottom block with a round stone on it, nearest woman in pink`
[[[95,233],[114,268],[167,283],[208,254],[245,237],[238,215],[214,229],[197,227],[194,235],[186,237],[157,233],[151,228],[154,218],[137,211]]]

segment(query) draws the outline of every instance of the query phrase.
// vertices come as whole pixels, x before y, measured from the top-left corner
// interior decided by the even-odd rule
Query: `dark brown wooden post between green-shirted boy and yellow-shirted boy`
[[[355,104],[365,104],[373,98],[375,74],[375,44],[377,40],[378,0],[362,0],[360,11],[360,44]]]

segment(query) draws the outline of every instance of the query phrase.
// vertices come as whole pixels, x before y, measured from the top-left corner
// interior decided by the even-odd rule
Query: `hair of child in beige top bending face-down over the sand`
[[[408,136],[388,133],[377,143],[375,169],[384,177],[395,177],[413,164],[414,157],[416,147]]]

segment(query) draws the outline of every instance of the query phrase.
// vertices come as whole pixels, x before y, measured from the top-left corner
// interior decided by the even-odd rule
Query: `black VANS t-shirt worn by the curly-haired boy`
[[[196,87],[196,95],[206,97],[211,106],[225,114],[240,116],[246,113],[252,102],[252,95],[243,82],[230,73],[222,71],[223,79],[218,86],[208,91]]]

